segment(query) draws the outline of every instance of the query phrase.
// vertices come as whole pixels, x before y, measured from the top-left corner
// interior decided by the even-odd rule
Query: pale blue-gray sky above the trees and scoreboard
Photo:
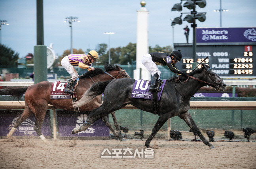
[[[171,19],[179,17],[182,11],[171,11],[180,0],[145,0],[149,11],[149,45],[154,47],[173,46],[173,43],[186,43],[183,28],[190,27],[189,43],[192,43],[191,24],[183,21],[181,25],[171,26]],[[205,22],[196,20],[197,27],[220,27],[220,0],[206,0],[205,8],[196,7],[197,12],[206,12]],[[182,2],[182,6],[185,1]],[[44,0],[44,45],[53,43],[53,50],[60,56],[70,49],[70,27],[64,23],[66,17],[78,17],[72,23],[73,48],[95,50],[98,44],[110,47],[125,47],[136,43],[137,11],[140,0]],[[222,27],[256,27],[256,0],[221,0]],[[186,14],[182,15],[182,19]],[[0,20],[2,25],[2,44],[19,53],[19,58],[28,53],[34,54],[36,46],[36,0],[0,0]],[[107,35],[104,32],[115,32]],[[173,36],[174,32],[174,36]]]

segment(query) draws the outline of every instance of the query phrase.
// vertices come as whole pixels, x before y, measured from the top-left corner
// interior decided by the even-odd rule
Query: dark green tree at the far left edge
[[[15,53],[11,48],[0,44],[0,67],[17,67],[19,53]]]

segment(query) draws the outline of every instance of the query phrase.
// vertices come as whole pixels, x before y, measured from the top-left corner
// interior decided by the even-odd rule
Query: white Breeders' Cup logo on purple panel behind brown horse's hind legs
[[[13,126],[16,120],[19,117],[13,118],[13,121],[11,122],[11,125]],[[33,132],[36,132],[34,130],[35,122],[31,121],[30,119],[26,119],[24,122],[21,123],[21,125],[17,128],[19,132],[24,133],[25,135],[30,135]]]

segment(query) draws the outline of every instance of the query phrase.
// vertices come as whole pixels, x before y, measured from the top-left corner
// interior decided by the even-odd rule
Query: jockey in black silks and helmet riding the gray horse
[[[180,53],[180,50],[178,51],[175,50],[171,54],[153,52],[143,56],[141,62],[152,75],[149,91],[157,92],[161,90],[161,88],[158,86],[161,72],[157,68],[157,65],[161,65],[161,66],[167,65],[168,68],[173,73],[176,73],[177,75],[187,75],[187,73],[184,73],[178,70],[175,66],[175,64],[179,62],[181,59],[182,59],[182,54]]]

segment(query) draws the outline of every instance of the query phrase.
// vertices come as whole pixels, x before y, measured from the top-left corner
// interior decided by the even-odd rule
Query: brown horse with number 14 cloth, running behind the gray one
[[[94,71],[89,71],[80,76],[78,86],[75,90],[78,100],[80,100],[83,93],[96,82],[107,81],[110,79],[130,78],[129,75],[126,73],[125,69],[122,69],[117,65],[113,66],[111,64],[106,64],[104,68],[106,69],[106,71],[103,71],[100,68],[95,68]],[[34,113],[36,116],[34,130],[40,136],[40,138],[46,142],[46,138],[42,134],[41,128],[44,122],[48,104],[53,105],[56,109],[74,111],[71,99],[50,99],[51,86],[51,82],[43,81],[26,88],[16,88],[7,90],[0,89],[0,94],[11,95],[12,97],[17,98],[19,101],[21,99],[21,96],[23,96],[23,94],[25,93],[25,110],[23,111],[21,116],[19,116],[19,118],[16,120],[15,124],[13,125],[13,128],[11,129],[11,131],[9,131],[7,138],[11,137],[16,128],[30,115],[32,115],[32,113]],[[95,100],[92,103],[79,107],[79,111],[90,111],[92,109],[100,107],[101,103],[102,97],[99,96],[95,98]],[[115,122],[116,129],[118,130],[118,124],[114,112],[112,116]],[[115,133],[112,126],[110,125],[108,118],[104,116],[102,120],[106,124],[106,126],[110,128],[114,135],[118,136]]]

